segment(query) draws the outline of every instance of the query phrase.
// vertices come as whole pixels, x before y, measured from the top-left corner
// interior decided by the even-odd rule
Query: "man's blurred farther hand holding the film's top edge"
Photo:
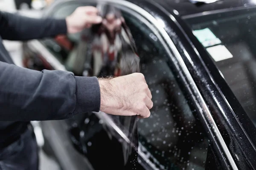
[[[77,33],[84,28],[90,28],[93,24],[102,22],[102,17],[98,16],[98,9],[93,6],[81,6],[66,18],[67,32]]]

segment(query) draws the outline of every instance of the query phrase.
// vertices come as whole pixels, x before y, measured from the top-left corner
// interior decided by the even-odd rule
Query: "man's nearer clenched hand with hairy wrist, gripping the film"
[[[141,73],[99,79],[101,92],[100,111],[122,116],[150,116],[152,95]]]

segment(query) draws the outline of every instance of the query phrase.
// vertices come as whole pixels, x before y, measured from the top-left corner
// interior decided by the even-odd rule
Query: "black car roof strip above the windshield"
[[[149,0],[150,1],[150,0]],[[199,14],[205,11],[217,11],[236,8],[250,8],[256,6],[256,0],[217,0],[215,3],[194,4],[190,0],[154,0],[154,2],[166,8],[179,12],[180,16]]]

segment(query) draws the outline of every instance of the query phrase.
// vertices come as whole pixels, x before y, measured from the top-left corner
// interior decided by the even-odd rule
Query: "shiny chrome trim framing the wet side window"
[[[57,1],[57,3],[53,3],[53,5],[47,10],[47,11],[51,11],[53,10],[56,6],[60,5],[61,3],[66,3],[66,2],[70,2],[70,1],[73,1],[73,0],[61,0],[61,1]],[[80,2],[85,2],[85,1],[81,1],[81,0],[77,0],[77,1],[80,1]],[[95,1],[92,1],[92,0],[87,0],[87,2],[95,2]],[[169,53],[169,56],[171,57],[172,61],[174,61],[175,65],[177,68],[181,68],[181,70],[184,72],[186,78],[189,80],[190,82],[190,86],[191,88],[194,90],[195,94],[198,95],[198,97],[196,98],[196,100],[199,102],[199,105],[201,106],[201,108],[203,109],[203,112],[204,112],[204,117],[206,116],[211,127],[214,129],[214,133],[218,139],[218,142],[220,142],[221,144],[221,147],[222,149],[224,150],[224,153],[225,155],[227,156],[227,159],[228,161],[230,162],[230,165],[231,167],[233,168],[233,170],[238,170],[238,167],[236,166],[236,163],[230,153],[230,151],[228,150],[228,147],[223,139],[223,137],[221,136],[221,133],[211,115],[211,112],[209,111],[209,108],[207,107],[207,104],[206,102],[204,101],[198,87],[196,86],[191,74],[189,73],[189,70],[188,68],[186,67],[185,65],[185,62],[183,61],[180,53],[178,52],[174,42],[171,40],[171,38],[169,37],[168,33],[165,31],[165,29],[160,25],[160,23],[156,20],[156,18],[154,18],[151,14],[149,14],[147,11],[145,11],[145,9],[141,8],[140,6],[137,6],[135,5],[134,3],[131,3],[131,2],[128,2],[126,0],[98,0],[97,2],[109,2],[109,3],[116,3],[118,4],[119,6],[123,6],[125,8],[129,8],[131,9],[132,11],[135,11],[137,12],[138,14],[142,15],[145,19],[147,19],[148,21],[151,22],[151,24],[154,25],[154,27],[157,28],[158,32],[160,33],[160,37],[157,36],[157,38],[160,38],[160,40],[162,39],[161,37],[163,37],[163,39],[166,41],[164,42],[164,40],[162,40],[162,43],[163,43],[163,46],[166,48],[166,52]],[[134,15],[134,14],[133,14]],[[172,17],[172,20],[175,20],[173,17]],[[37,40],[36,40],[37,41]],[[36,42],[35,41],[35,42]],[[39,41],[38,41],[39,42]],[[37,42],[36,42],[37,43]],[[40,42],[39,42],[40,43]],[[38,43],[37,43],[38,44]],[[41,44],[41,43],[40,43]],[[42,44],[41,44],[42,45]],[[40,45],[38,45],[40,46]],[[42,45],[43,46],[43,45]],[[168,48],[169,46],[169,48]],[[40,48],[40,47],[39,47]],[[43,49],[43,48],[42,48]],[[177,62],[179,65],[177,65],[177,63],[175,62],[176,60],[174,59],[173,55],[172,55],[172,52],[169,50],[171,49],[172,52],[175,54],[175,58],[177,59]],[[47,52],[49,53],[49,51],[47,51],[46,48],[44,48],[43,50],[46,50],[45,53],[47,54]],[[185,51],[185,54],[188,54],[186,53]],[[45,57],[45,55],[44,55]],[[189,56],[187,56],[189,58]],[[58,66],[58,64],[61,64],[61,63],[58,63],[56,61],[54,61],[54,59],[49,59],[49,58],[55,58],[52,54],[49,55],[48,57],[48,60],[52,63],[55,63],[55,66],[58,67],[58,68],[62,68],[61,66]],[[48,61],[47,60],[47,61]],[[57,59],[56,59],[57,60]],[[62,65],[62,64],[61,64]],[[63,66],[63,65],[62,65]],[[62,68],[63,69],[63,68]],[[61,69],[61,70],[62,70]],[[109,124],[113,129],[116,129],[115,127],[113,127],[110,122]],[[120,134],[121,136],[123,134]],[[140,149],[139,149],[140,150]],[[140,153],[139,153],[140,154]],[[142,158],[145,158],[145,156],[142,156]]]

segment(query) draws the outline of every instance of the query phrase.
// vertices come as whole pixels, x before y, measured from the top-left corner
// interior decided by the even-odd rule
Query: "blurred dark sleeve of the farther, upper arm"
[[[65,19],[35,19],[0,11],[0,36],[4,40],[32,40],[67,34]]]

